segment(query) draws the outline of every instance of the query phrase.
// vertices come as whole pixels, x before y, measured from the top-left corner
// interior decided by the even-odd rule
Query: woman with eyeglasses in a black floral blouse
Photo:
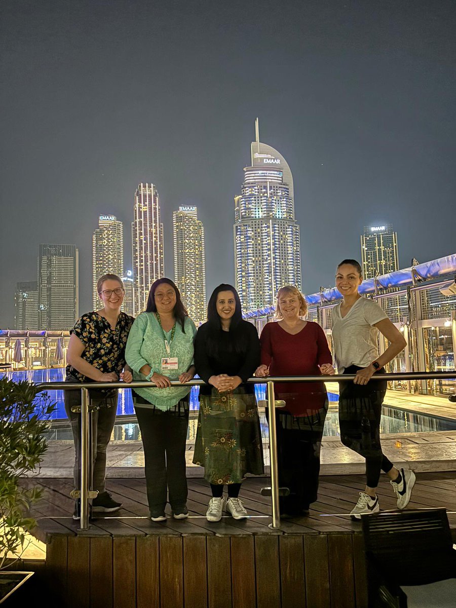
[[[123,313],[123,282],[116,274],[105,274],[98,279],[97,292],[103,308],[83,314],[71,330],[66,355],[66,382],[131,382],[133,376],[125,364],[125,345],[133,317]],[[114,513],[122,506],[106,492],[106,448],[111,438],[117,412],[117,389],[91,389],[92,406],[92,489],[98,491],[92,500],[92,511]],[[71,421],[75,444],[74,484],[81,480],[81,406],[80,390],[64,391],[66,415]],[[80,518],[80,499],[76,501],[74,519]]]

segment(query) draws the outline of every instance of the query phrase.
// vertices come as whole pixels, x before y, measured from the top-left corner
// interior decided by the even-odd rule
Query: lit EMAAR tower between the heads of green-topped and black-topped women
[[[174,282],[182,295],[189,316],[206,320],[206,256],[204,226],[193,206],[173,212]]]

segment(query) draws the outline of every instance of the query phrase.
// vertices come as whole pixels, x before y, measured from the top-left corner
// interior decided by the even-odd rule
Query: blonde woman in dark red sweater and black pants
[[[307,303],[299,289],[278,290],[277,323],[266,323],[261,332],[261,365],[255,376],[333,375],[332,357],[318,323],[305,321]],[[278,483],[289,488],[280,497],[280,512],[306,515],[317,500],[320,445],[328,411],[323,382],[275,384],[275,398],[286,402],[276,410]]]

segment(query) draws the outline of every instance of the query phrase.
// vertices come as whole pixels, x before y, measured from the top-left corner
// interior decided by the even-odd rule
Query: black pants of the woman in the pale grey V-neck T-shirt
[[[356,374],[361,367],[350,365],[344,371]],[[385,373],[384,368],[376,373]],[[380,471],[389,472],[393,463],[383,454],[380,444],[380,418],[387,381],[371,380],[366,385],[340,382],[339,427],[344,446],[364,456],[366,485],[376,488]]]

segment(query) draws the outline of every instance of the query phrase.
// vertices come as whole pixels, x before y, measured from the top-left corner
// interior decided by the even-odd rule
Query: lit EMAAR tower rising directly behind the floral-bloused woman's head
[[[98,216],[98,228],[92,237],[92,299],[94,310],[100,308],[97,281],[103,274],[111,272],[123,275],[123,224],[115,215]]]

